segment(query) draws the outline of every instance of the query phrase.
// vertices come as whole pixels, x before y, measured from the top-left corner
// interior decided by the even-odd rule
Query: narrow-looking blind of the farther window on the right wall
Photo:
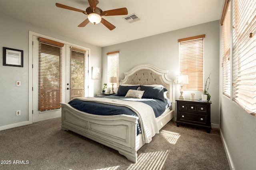
[[[222,22],[222,50],[223,50],[223,89],[222,93],[230,97],[230,1],[226,6],[226,14]]]

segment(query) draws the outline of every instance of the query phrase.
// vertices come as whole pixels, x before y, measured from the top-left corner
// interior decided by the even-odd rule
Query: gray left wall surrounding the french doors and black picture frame
[[[0,129],[7,125],[23,125],[28,121],[28,32],[33,31],[56,39],[90,48],[89,68],[101,67],[101,47],[70,39],[58,33],[50,32],[36,25],[0,14]],[[3,47],[24,51],[24,66],[3,66]],[[21,86],[16,86],[21,81]],[[101,88],[101,80],[90,81],[94,94]],[[21,115],[16,116],[16,110]],[[21,123],[21,124],[20,124]]]

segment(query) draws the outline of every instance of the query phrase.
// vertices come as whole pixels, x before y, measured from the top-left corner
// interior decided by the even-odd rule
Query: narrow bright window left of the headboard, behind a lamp
[[[110,83],[110,77],[116,77],[116,83],[114,83],[114,88],[119,86],[119,51],[107,53],[108,55],[108,87],[112,87]]]

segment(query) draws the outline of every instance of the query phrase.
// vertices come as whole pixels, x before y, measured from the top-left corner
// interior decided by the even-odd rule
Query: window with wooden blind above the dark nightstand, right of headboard
[[[184,84],[183,90],[203,91],[204,37],[205,35],[198,35],[178,40],[180,73],[188,75],[189,82]]]

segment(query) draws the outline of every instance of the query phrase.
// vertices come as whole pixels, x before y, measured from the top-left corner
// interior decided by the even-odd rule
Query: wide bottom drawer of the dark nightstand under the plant
[[[178,120],[179,121],[191,122],[191,123],[206,124],[207,115],[180,112],[179,115],[178,115]]]

